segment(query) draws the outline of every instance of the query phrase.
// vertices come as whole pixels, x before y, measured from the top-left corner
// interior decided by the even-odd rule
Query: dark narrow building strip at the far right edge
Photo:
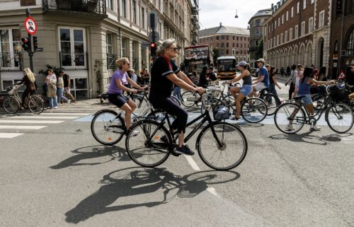
[[[354,1],[335,0],[332,12],[329,73],[336,78],[354,65]]]

